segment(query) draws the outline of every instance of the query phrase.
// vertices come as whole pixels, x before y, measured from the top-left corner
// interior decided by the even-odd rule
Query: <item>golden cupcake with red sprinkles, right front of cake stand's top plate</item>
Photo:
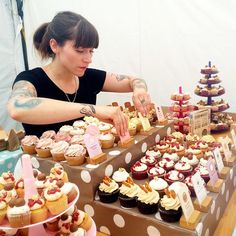
[[[46,207],[52,215],[58,215],[68,208],[68,199],[60,188],[51,186],[45,189]]]

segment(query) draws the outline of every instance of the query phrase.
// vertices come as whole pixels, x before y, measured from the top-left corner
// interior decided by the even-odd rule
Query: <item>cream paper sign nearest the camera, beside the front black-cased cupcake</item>
[[[169,189],[175,190],[179,198],[180,205],[182,207],[185,219],[188,222],[191,215],[194,212],[194,206],[193,206],[191,197],[189,195],[189,190],[188,190],[187,185],[181,182],[175,182],[169,187]]]

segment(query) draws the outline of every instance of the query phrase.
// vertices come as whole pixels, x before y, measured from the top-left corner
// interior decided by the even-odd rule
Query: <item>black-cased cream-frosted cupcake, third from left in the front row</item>
[[[141,190],[138,193],[138,210],[145,215],[154,214],[158,210],[159,193],[153,190],[148,183],[140,185]]]

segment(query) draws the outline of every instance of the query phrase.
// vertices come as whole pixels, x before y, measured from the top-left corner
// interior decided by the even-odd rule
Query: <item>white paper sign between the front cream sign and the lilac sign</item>
[[[191,180],[197,200],[201,205],[204,199],[207,197],[205,182],[198,171],[192,176]]]

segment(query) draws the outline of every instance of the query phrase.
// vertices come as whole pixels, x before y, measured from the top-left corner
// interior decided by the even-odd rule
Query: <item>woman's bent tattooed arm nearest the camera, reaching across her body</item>
[[[9,98],[10,116],[29,124],[52,124],[83,116],[94,116],[112,122],[118,134],[127,130],[127,118],[118,107],[95,106],[37,97],[35,87],[28,81],[15,83]]]

